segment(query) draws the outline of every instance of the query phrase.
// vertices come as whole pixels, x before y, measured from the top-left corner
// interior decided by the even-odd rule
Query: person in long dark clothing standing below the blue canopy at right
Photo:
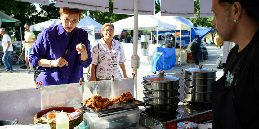
[[[195,41],[198,43],[199,46],[201,46],[201,40],[200,40],[199,35],[195,35],[195,39],[192,40],[192,44]],[[202,60],[201,47],[198,47],[198,50],[196,50],[195,52],[192,52],[192,56],[193,56],[193,60],[195,61],[195,64],[198,65],[199,64],[199,60]]]

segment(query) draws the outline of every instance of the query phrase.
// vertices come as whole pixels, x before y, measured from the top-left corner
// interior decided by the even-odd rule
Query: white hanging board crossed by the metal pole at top
[[[139,0],[139,14],[155,15],[155,0]],[[113,13],[115,14],[134,14],[134,0],[114,0]]]

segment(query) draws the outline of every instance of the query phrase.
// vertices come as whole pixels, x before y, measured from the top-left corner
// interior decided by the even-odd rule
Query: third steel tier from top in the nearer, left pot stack
[[[143,100],[146,103],[153,104],[153,105],[169,105],[174,104],[178,101],[178,97],[180,96],[180,93],[178,93],[177,96],[169,97],[169,98],[156,98],[156,97],[150,97],[146,96],[143,97]]]

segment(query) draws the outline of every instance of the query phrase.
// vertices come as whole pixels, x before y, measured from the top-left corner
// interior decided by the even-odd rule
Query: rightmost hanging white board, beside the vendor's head
[[[211,12],[212,0],[200,0],[200,16],[201,17],[214,17]]]

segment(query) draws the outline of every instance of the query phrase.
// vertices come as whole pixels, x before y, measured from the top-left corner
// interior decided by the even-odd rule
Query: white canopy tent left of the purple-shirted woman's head
[[[30,31],[43,31],[46,28],[56,26],[60,22],[61,22],[60,19],[50,19],[48,21],[30,26]]]

